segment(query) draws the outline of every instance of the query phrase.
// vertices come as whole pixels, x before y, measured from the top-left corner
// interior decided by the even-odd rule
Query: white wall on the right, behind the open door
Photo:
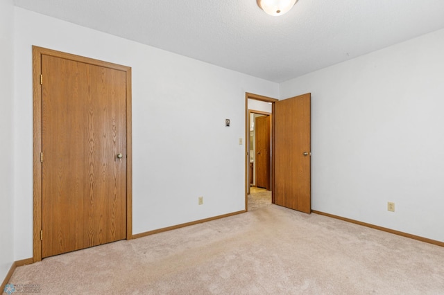
[[[314,210],[444,241],[443,53],[438,30],[280,84],[311,92]]]

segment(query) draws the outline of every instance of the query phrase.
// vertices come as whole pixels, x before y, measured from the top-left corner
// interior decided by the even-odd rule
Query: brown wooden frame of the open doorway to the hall
[[[250,140],[250,112],[248,111],[248,99],[253,99],[253,100],[259,100],[259,101],[263,101],[263,102],[271,102],[272,104],[272,111],[271,111],[271,124],[273,126],[273,109],[274,109],[274,102],[278,101],[278,99],[276,98],[271,98],[268,96],[261,96],[259,94],[254,94],[254,93],[249,93],[246,92],[245,93],[245,138],[246,138],[246,145],[245,145],[245,211],[248,211],[248,193],[250,193],[250,181],[248,179],[248,168],[249,168],[249,164],[250,164],[250,151],[248,150],[248,146],[249,146],[249,140]],[[255,111],[253,111],[254,113]],[[267,113],[269,114],[269,113]],[[272,128],[273,129],[273,128]],[[271,130],[272,134],[271,137],[273,138],[273,131]],[[272,141],[273,142],[273,141]],[[273,148],[273,147],[272,147]],[[271,167],[272,167],[272,171],[271,171],[271,186],[273,186],[273,182],[274,182],[274,173],[273,173],[273,150],[271,150]],[[273,188],[271,188],[273,191]],[[272,201],[274,202],[274,199],[272,197]]]

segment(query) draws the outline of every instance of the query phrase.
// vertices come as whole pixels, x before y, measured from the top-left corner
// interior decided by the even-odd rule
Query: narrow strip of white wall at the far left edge
[[[14,38],[12,0],[0,1],[0,282],[14,262],[12,186],[13,145],[12,108],[14,73]],[[3,290],[1,290],[3,291]]]

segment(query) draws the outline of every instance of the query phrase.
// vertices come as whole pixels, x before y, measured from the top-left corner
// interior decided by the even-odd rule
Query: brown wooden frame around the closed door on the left
[[[33,46],[33,262],[42,260],[42,55],[61,57],[126,72],[126,240],[133,238],[133,154],[131,68]],[[44,78],[43,78],[44,79]]]

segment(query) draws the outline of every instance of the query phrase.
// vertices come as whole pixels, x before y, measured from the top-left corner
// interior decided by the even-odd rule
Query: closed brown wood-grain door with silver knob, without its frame
[[[125,239],[125,72],[42,55],[42,77],[42,257]]]

